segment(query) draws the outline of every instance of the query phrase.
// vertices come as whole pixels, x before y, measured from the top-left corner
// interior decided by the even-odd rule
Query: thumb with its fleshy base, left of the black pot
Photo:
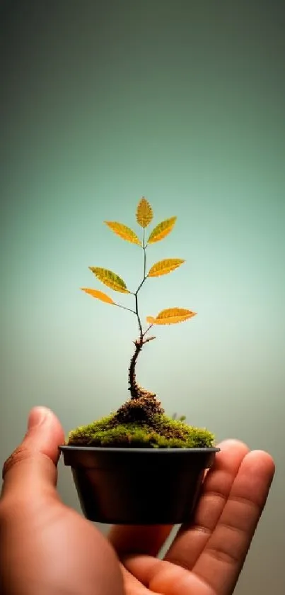
[[[112,546],[56,490],[64,432],[52,411],[30,412],[28,433],[4,464],[1,595],[122,595]]]

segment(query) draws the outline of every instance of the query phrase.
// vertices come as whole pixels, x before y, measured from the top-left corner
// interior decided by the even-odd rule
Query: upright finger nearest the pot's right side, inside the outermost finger
[[[170,546],[165,560],[192,569],[207,545],[218,523],[228,494],[235,480],[248,447],[238,440],[226,440],[219,445],[213,467],[207,473],[202,494],[191,526],[182,526]]]

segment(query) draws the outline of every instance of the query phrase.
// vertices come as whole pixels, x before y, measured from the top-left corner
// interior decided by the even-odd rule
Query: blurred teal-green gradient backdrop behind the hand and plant
[[[0,9],[1,462],[35,404],[67,433],[127,397],[135,318],[79,287],[103,289],[89,266],[138,284],[139,248],[103,221],[137,230],[145,195],[155,223],[178,216],[149,265],[187,262],[149,279],[141,311],[198,316],[158,330],[139,382],[168,413],[277,463],[239,595],[285,589],[282,4],[15,0]],[[59,471],[64,501],[78,508],[69,469]]]

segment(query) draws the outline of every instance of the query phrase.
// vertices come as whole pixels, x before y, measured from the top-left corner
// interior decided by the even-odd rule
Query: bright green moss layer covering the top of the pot
[[[188,426],[164,413],[149,421],[118,423],[116,413],[69,433],[69,445],[105,447],[194,448],[214,445],[207,429]]]

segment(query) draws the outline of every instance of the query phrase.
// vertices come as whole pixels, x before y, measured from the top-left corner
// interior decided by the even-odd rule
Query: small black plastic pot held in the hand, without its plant
[[[64,445],[84,516],[123,525],[190,521],[205,469],[219,448],[107,448]]]

